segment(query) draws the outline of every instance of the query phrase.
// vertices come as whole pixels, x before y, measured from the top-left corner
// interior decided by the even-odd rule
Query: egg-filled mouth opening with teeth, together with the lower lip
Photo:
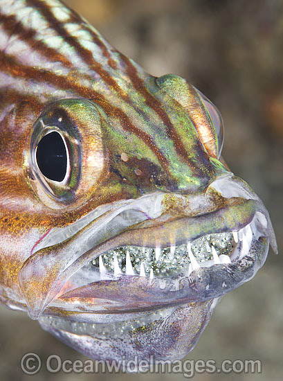
[[[69,279],[70,290],[59,299],[91,301],[95,296],[122,303],[116,311],[125,311],[221,296],[263,264],[266,228],[266,218],[257,212],[239,231],[210,233],[187,244],[115,247],[75,272]]]

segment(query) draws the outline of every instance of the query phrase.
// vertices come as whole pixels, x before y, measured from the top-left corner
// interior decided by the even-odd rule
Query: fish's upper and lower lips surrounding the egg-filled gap
[[[210,205],[208,213],[202,211],[195,215],[194,211],[191,212],[194,216],[173,217],[166,209],[167,197],[173,196],[154,193],[118,202],[109,208],[104,206],[71,227],[51,232],[35,248],[19,273],[19,285],[30,317],[38,319],[43,312],[60,314],[62,310],[65,313],[68,310],[79,313],[82,309],[84,312],[125,312],[190,300],[204,301],[248,281],[263,265],[269,241],[276,250],[268,212],[244,181],[229,175],[214,183],[206,193],[194,197],[194,209],[197,202],[199,211],[201,205],[206,205],[206,210]],[[226,184],[224,191],[221,190],[223,184]],[[230,193],[225,195],[227,184]],[[211,191],[223,193],[225,206],[221,199],[217,200],[221,200],[222,205],[213,204]],[[187,204],[192,199],[190,196],[177,197],[187,198]],[[189,209],[192,211],[190,206]],[[94,277],[91,282],[89,276],[84,276],[91,260],[119,246],[188,245],[206,234],[224,231],[238,232],[239,242],[230,257],[231,263],[227,260],[217,263],[214,258],[212,266],[193,266],[194,269],[188,269],[177,281],[131,273],[108,279]],[[191,265],[193,263],[192,260]]]

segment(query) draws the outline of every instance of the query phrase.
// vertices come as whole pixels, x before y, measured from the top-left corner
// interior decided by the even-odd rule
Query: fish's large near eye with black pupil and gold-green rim
[[[25,168],[35,195],[51,209],[80,206],[108,174],[102,124],[107,116],[89,100],[46,105],[27,140]]]

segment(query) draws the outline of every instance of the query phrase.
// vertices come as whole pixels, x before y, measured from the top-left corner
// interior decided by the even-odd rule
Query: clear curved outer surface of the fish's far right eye
[[[223,143],[224,143],[224,123],[222,116],[217,107],[199,90],[197,90],[203,105],[206,107],[208,115],[214,125],[215,133],[217,136],[217,152],[218,159],[221,155]]]

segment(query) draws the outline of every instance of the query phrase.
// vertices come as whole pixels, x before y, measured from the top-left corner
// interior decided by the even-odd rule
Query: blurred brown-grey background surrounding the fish
[[[283,380],[283,1],[68,0],[113,46],[149,73],[176,73],[206,94],[226,125],[223,157],[271,214],[280,255],[221,299],[186,358],[262,361],[261,374],[199,374],[197,381]],[[0,379],[27,380],[21,357],[85,359],[25,314],[0,308]],[[75,375],[35,380],[182,380],[183,375]]]

